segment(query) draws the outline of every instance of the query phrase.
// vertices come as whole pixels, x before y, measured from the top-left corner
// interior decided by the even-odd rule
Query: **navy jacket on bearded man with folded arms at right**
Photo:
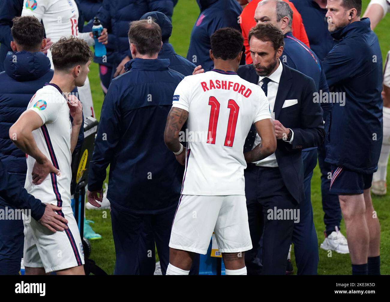
[[[339,41],[324,58],[330,89],[345,93],[333,104],[326,162],[358,173],[377,170],[383,138],[382,57],[370,20],[363,18],[332,33]]]

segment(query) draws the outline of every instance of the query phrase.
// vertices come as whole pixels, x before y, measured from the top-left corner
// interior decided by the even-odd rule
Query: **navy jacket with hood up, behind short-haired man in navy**
[[[151,17],[161,28],[161,38],[163,46],[158,53],[159,59],[169,59],[169,68],[180,72],[183,76],[190,76],[196,67],[195,64],[188,61],[186,58],[179,56],[172,44],[168,43],[169,37],[172,34],[172,22],[162,12],[148,12],[141,17],[141,20]]]

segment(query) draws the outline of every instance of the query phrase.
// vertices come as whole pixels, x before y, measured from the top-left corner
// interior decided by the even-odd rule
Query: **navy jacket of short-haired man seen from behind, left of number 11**
[[[184,76],[168,66],[168,59],[127,62],[103,102],[88,190],[103,187],[110,164],[107,198],[124,212],[160,214],[179,201],[184,167],[165,146],[164,129]]]

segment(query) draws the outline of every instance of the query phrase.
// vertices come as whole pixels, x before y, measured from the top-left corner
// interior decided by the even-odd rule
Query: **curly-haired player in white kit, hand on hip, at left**
[[[66,95],[84,84],[93,55],[87,43],[62,38],[51,46],[53,79],[39,89],[10,129],[27,155],[25,188],[43,203],[62,207],[67,229],[52,233],[34,219],[25,223],[26,274],[84,274],[83,245],[71,208],[71,155],[82,124],[82,105]],[[71,122],[70,117],[73,118]]]

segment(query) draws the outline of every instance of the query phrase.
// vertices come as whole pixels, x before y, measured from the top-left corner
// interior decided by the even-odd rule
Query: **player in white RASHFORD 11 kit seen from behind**
[[[275,152],[276,136],[264,92],[236,74],[242,47],[240,32],[217,30],[210,50],[215,68],[185,77],[173,97],[164,139],[177,160],[185,161],[186,170],[170,237],[167,275],[188,275],[193,253],[206,254],[213,231],[226,274],[246,275],[244,252],[252,249],[252,243],[244,169],[246,162]],[[178,136],[186,121],[190,136],[185,149]],[[252,124],[262,142],[244,155]]]

